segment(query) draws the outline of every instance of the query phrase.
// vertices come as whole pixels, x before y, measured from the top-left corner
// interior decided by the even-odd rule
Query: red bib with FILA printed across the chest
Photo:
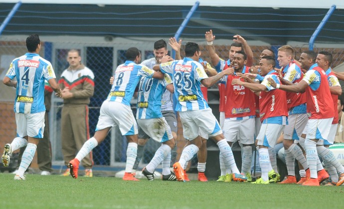
[[[249,67],[244,66],[242,73],[249,73]],[[226,85],[226,108],[224,110],[225,118],[245,117],[256,114],[254,93],[244,86],[232,85],[233,79],[240,79],[239,76],[227,76]],[[243,79],[240,79],[244,81]]]

